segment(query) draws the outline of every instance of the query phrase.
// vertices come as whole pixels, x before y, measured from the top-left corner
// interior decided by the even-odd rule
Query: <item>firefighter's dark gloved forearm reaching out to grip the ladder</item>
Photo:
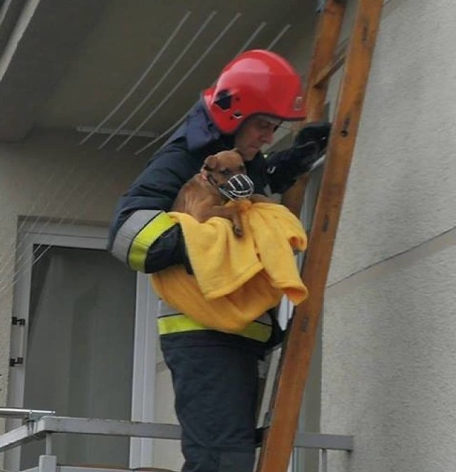
[[[309,172],[325,152],[331,124],[313,122],[305,125],[296,135],[293,145],[266,158],[271,192],[282,194],[302,174]]]

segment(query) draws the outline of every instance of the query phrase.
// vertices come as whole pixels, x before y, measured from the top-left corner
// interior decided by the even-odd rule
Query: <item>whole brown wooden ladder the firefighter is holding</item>
[[[318,19],[307,84],[308,122],[323,119],[329,79],[341,65],[344,70],[301,271],[310,295],[294,310],[284,342],[258,472],[286,472],[293,449],[382,6],[383,0],[358,0],[351,38],[343,47],[338,47],[338,41],[346,0],[327,0]],[[305,179],[284,196],[284,203],[298,216],[304,191]]]

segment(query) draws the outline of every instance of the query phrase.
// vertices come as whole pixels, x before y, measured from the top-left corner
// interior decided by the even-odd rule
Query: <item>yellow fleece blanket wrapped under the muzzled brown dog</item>
[[[170,213],[182,226],[195,276],[182,266],[152,275],[155,291],[169,305],[224,332],[242,331],[282,295],[295,305],[307,297],[293,253],[306,248],[299,219],[279,204],[232,204],[241,211],[242,238],[234,236],[227,219],[199,223],[190,215]]]

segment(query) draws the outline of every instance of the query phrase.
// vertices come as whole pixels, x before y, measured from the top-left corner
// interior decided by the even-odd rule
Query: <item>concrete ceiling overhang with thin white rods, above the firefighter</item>
[[[317,3],[4,0],[0,140],[33,127],[160,135],[242,46],[286,56]]]

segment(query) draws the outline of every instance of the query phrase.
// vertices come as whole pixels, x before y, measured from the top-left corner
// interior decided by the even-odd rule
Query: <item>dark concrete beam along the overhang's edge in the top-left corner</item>
[[[23,7],[0,58],[0,140],[3,141],[21,140],[31,129],[108,1],[19,3]],[[17,13],[16,0],[3,6],[11,9],[11,15]]]

